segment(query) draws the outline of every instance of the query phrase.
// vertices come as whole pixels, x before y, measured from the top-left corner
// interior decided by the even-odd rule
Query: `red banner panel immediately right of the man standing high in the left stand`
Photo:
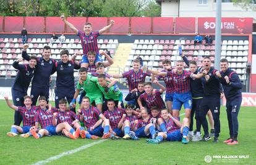
[[[28,32],[44,32],[45,19],[43,17],[25,17],[25,28]]]

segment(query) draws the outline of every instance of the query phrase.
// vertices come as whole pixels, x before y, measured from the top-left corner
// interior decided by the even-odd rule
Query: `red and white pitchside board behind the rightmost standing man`
[[[226,98],[223,98],[223,106],[226,106]],[[256,106],[256,93],[242,93],[241,106]]]

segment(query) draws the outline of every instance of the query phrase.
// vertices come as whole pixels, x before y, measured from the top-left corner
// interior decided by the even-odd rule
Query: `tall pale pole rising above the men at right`
[[[221,56],[221,0],[216,0],[216,20],[215,20],[215,69],[220,70]]]

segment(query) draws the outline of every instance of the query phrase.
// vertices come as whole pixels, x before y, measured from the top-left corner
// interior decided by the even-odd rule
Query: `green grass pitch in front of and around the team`
[[[0,101],[0,164],[33,164],[65,151],[79,148],[95,140],[64,137],[9,138],[14,111]],[[184,111],[181,111],[183,113]],[[241,108],[239,112],[239,145],[222,143],[228,138],[228,122],[224,107],[221,108],[220,142],[163,142],[160,145],[139,141],[106,140],[85,150],[64,156],[49,164],[207,164],[206,155],[249,155],[249,159],[213,159],[209,164],[255,164],[255,108]],[[194,126],[195,127],[195,126]]]

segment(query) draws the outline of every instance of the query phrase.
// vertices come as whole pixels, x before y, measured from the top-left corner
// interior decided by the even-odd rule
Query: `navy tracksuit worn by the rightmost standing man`
[[[230,83],[226,83],[226,80],[224,79],[225,76],[229,77]],[[231,69],[226,70],[226,72],[221,72],[220,81],[223,85],[224,95],[226,97],[226,112],[228,117],[229,135],[230,138],[237,140],[237,116],[242,103],[242,83],[236,72]]]

